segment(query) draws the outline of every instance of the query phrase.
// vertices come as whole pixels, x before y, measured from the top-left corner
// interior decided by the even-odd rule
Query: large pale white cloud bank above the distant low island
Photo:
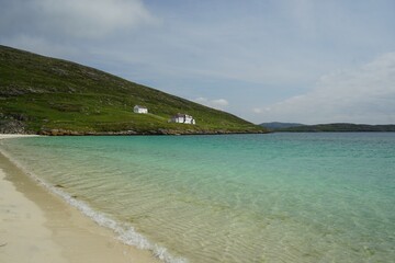
[[[266,119],[305,123],[395,123],[395,53],[323,76],[309,93],[261,110]],[[258,113],[255,110],[255,113]]]

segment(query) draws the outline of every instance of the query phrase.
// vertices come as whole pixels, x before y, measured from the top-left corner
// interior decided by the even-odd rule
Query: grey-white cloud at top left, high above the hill
[[[47,37],[100,38],[156,21],[140,0],[14,0],[3,8],[1,31]]]

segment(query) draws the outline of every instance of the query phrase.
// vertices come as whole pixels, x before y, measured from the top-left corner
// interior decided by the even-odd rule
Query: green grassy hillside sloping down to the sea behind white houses
[[[135,114],[135,105],[149,114]],[[169,123],[177,113],[196,125]],[[0,45],[0,133],[264,133],[232,114],[75,62]]]

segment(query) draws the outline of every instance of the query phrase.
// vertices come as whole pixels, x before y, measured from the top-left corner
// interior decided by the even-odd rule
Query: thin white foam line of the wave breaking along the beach
[[[156,258],[166,262],[166,263],[187,263],[188,260],[183,258],[173,256],[168,250],[161,245],[151,243],[147,238],[143,235],[138,233],[133,226],[127,224],[121,224],[114,219],[112,219],[109,215],[104,213],[100,213],[90,207],[87,203],[82,201],[78,201],[74,198],[71,195],[66,193],[65,191],[55,187],[54,185],[45,182],[34,173],[27,171],[23,165],[21,165],[14,158],[12,158],[9,153],[4,152],[4,150],[0,149],[0,152],[5,156],[11,162],[13,162],[20,170],[22,170],[25,174],[31,176],[33,180],[38,182],[42,186],[49,190],[52,193],[60,196],[65,199],[69,205],[79,209],[83,215],[91,218],[94,222],[97,222],[101,227],[112,229],[117,239],[127,244],[133,245],[142,250],[150,251]]]

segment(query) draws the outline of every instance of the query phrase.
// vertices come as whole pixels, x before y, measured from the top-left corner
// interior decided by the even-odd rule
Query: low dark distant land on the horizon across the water
[[[351,123],[332,123],[304,125],[295,123],[262,123],[262,127],[271,132],[294,132],[294,133],[341,133],[341,132],[395,132],[395,125],[368,125]]]

